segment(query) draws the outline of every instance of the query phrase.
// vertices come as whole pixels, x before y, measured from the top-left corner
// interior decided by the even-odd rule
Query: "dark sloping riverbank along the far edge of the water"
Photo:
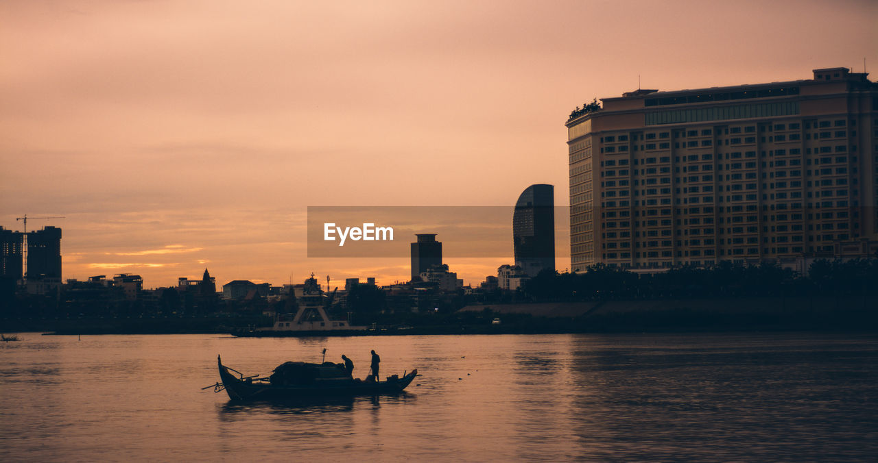
[[[232,333],[247,327],[270,326],[270,317],[77,317],[4,319],[0,322],[7,333],[182,334]],[[761,297],[470,305],[451,314],[418,314],[407,323],[378,323],[368,331],[308,335],[802,330],[878,330],[878,301],[863,298]]]

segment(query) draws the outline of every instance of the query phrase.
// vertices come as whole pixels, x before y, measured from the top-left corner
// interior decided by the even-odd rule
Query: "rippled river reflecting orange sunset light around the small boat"
[[[19,335],[0,343],[0,459],[872,460],[878,336],[749,333],[232,338]],[[398,396],[235,403],[217,354],[418,368]]]

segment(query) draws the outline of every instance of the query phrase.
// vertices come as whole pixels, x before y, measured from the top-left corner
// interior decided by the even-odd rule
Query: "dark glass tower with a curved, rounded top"
[[[515,265],[529,276],[555,271],[555,187],[536,184],[524,189],[512,217]]]

